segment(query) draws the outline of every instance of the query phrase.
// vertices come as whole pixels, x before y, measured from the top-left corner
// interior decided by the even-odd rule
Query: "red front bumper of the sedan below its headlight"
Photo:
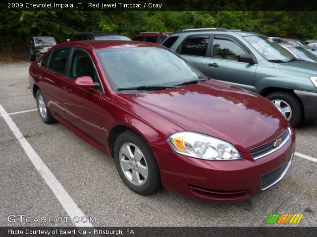
[[[262,193],[261,176],[279,167],[285,167],[286,173],[286,164],[291,162],[295,152],[295,134],[292,130],[292,137],[282,148],[257,160],[250,153],[242,153],[241,160],[211,161],[190,158],[158,147],[152,149],[166,189],[199,199],[230,202]]]

